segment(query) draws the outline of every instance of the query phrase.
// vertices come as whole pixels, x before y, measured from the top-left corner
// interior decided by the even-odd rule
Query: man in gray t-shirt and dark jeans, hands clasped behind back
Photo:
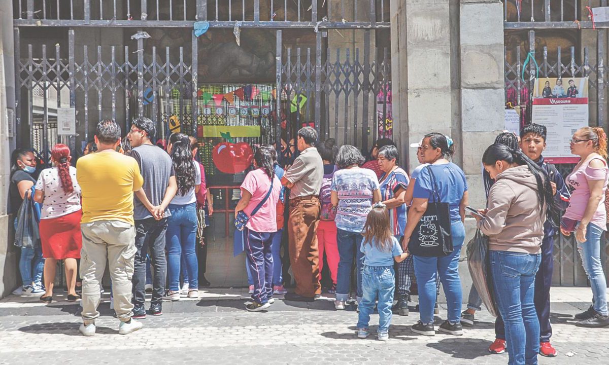
[[[165,257],[165,232],[167,218],[171,213],[167,205],[178,190],[174,167],[167,153],[152,144],[155,124],[146,117],[133,120],[128,138],[133,150],[131,156],[138,161],[139,172],[144,178],[143,193],[136,194],[133,201],[135,220],[135,254],[133,270],[133,318],[146,318],[146,253],[154,271],[150,315],[163,314],[163,294],[167,260]]]

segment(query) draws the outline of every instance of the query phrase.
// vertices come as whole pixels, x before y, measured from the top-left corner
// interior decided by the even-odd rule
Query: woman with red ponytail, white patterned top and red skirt
[[[44,169],[38,176],[34,200],[42,205],[40,215],[40,242],[44,262],[46,293],[40,301],[50,303],[57,260],[63,260],[68,283],[68,302],[79,299],[76,294],[76,259],[80,259],[80,186],[76,181],[76,168],[70,165],[72,157],[65,144],[56,144],[51,150],[53,167]]]

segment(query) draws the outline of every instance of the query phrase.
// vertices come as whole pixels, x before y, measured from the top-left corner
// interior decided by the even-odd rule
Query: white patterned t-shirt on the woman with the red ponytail
[[[44,169],[38,176],[35,189],[44,192],[44,201],[40,219],[62,217],[80,210],[80,186],[76,181],[76,167],[69,167],[74,191],[69,194],[63,192],[62,181],[59,178],[57,167]]]

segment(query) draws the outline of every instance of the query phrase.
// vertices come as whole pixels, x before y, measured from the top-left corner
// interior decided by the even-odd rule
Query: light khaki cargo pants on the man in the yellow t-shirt
[[[80,277],[82,277],[82,319],[90,324],[99,317],[99,284],[104,276],[106,262],[110,266],[114,311],[123,322],[133,315],[132,284],[135,257],[135,227],[119,221],[95,221],[80,224],[82,251]]]

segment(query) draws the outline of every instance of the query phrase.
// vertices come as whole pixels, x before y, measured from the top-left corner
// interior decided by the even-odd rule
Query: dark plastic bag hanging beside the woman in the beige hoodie
[[[488,267],[488,237],[482,234],[479,229],[476,230],[476,235],[467,244],[466,254],[471,280],[488,312],[496,317],[499,310],[495,304],[493,281]]]

